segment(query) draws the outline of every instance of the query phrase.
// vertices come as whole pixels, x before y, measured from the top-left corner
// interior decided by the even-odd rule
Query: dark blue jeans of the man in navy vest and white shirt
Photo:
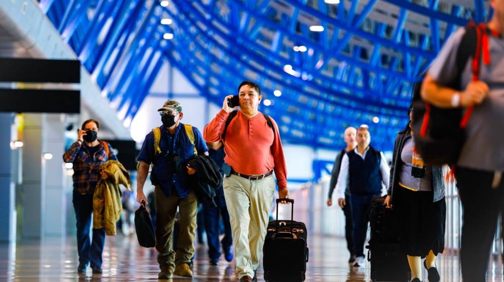
[[[355,256],[364,256],[364,243],[366,241],[367,224],[369,223],[369,212],[371,211],[373,196],[372,194],[352,194],[350,196]]]

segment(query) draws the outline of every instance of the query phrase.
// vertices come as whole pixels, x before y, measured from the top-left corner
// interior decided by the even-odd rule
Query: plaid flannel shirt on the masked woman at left
[[[102,142],[98,151],[91,155],[86,146],[83,146],[79,142],[75,142],[70,146],[67,152],[63,155],[63,160],[65,162],[71,162],[74,164],[74,174],[72,175],[72,180],[74,180],[74,192],[79,192],[79,194],[87,195],[93,194],[98,181],[98,168],[102,163],[107,160],[117,160],[117,157],[112,150],[110,144],[108,144],[109,155],[105,151],[105,147]]]

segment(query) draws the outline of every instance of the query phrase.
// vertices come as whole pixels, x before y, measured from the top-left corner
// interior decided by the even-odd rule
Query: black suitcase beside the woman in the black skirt
[[[372,281],[409,281],[406,254],[399,244],[399,226],[393,209],[385,208],[385,198],[375,197],[369,216],[371,238],[366,248]]]

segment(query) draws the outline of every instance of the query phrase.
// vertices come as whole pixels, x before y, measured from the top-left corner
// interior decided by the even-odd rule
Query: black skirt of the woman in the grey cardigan
[[[407,255],[437,255],[445,248],[446,201],[432,203],[432,191],[394,190],[394,208],[399,215],[399,240]]]

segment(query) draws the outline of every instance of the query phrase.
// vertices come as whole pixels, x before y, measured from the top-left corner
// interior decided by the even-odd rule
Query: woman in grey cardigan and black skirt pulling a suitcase
[[[439,282],[435,259],[445,247],[445,184],[441,166],[425,165],[414,149],[411,119],[394,145],[390,187],[385,203],[399,215],[401,249],[407,254],[411,281],[421,282],[421,258],[429,282]]]

